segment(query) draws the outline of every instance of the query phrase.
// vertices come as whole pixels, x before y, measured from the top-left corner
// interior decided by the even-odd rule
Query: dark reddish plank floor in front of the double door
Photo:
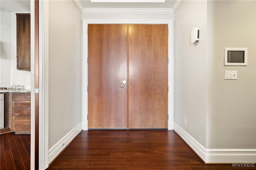
[[[234,170],[208,164],[168,130],[82,131],[47,170]],[[249,168],[253,169],[253,168]]]

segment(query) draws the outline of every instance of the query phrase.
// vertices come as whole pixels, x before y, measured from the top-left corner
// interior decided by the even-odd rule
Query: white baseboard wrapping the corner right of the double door
[[[205,163],[256,163],[256,149],[206,149],[175,122],[173,129]]]

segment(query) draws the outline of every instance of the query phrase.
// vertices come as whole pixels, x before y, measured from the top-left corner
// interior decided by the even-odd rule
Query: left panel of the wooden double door
[[[88,25],[88,128],[127,129],[127,24]]]

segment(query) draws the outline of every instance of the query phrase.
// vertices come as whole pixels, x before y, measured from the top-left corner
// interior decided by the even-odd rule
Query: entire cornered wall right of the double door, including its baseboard
[[[256,162],[256,2],[184,0],[174,25],[174,130],[206,163]],[[225,47],[248,48],[248,66],[224,66]]]

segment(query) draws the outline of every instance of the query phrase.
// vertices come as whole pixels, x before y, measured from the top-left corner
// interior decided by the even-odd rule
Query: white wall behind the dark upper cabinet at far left
[[[1,9],[0,87],[30,89],[30,71],[17,70],[16,13]]]

